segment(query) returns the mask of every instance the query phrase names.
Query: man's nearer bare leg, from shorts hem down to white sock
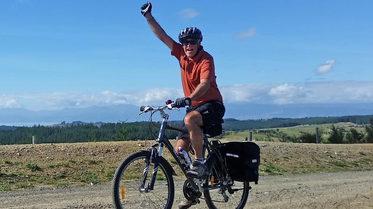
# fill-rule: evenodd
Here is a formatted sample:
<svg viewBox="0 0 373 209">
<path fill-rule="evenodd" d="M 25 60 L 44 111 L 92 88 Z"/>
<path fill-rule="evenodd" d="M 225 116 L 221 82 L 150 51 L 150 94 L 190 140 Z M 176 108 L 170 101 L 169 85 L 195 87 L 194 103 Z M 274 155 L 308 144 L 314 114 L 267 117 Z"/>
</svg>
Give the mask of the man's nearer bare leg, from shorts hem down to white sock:
<svg viewBox="0 0 373 209">
<path fill-rule="evenodd" d="M 189 131 L 190 141 L 193 145 L 195 157 L 202 158 L 203 132 L 200 127 L 203 126 L 203 121 L 201 114 L 197 111 L 189 112 L 185 115 L 184 123 Z"/>
</svg>

